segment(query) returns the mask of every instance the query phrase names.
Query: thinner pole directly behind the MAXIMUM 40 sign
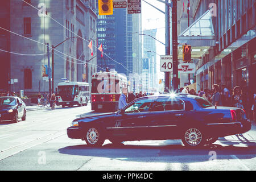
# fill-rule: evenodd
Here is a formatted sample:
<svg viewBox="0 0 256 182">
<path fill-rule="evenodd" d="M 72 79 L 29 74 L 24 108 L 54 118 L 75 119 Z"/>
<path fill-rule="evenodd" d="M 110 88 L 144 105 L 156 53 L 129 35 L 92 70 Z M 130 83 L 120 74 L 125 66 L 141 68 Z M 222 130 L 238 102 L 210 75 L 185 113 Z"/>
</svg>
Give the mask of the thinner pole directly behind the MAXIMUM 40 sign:
<svg viewBox="0 0 256 182">
<path fill-rule="evenodd" d="M 165 12 L 165 19 L 166 19 L 166 55 L 170 55 L 170 6 L 167 5 L 169 2 L 168 0 L 166 1 L 166 12 Z M 165 88 L 170 89 L 170 72 L 166 72 L 165 74 Z"/>
</svg>

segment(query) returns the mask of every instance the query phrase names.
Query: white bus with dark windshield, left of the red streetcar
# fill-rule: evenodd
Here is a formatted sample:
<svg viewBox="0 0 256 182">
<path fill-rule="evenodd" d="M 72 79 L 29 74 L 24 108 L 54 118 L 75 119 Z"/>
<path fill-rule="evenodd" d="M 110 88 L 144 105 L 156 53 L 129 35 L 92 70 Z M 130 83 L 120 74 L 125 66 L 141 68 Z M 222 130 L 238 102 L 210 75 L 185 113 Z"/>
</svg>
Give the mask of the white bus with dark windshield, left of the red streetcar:
<svg viewBox="0 0 256 182">
<path fill-rule="evenodd" d="M 62 107 L 84 106 L 90 100 L 89 84 L 87 82 L 59 82 L 57 90 L 58 105 L 62 105 Z"/>
</svg>

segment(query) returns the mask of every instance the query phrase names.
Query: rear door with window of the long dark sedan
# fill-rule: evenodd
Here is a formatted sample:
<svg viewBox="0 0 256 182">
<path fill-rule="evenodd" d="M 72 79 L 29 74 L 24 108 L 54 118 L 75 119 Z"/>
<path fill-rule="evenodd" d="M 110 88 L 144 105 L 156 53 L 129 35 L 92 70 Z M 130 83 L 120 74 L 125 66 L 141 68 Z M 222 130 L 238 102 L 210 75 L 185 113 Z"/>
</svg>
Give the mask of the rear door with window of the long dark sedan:
<svg viewBox="0 0 256 182">
<path fill-rule="evenodd" d="M 175 138 L 181 119 L 184 119 L 184 102 L 177 98 L 157 98 L 152 106 L 151 133 L 158 139 Z"/>
</svg>

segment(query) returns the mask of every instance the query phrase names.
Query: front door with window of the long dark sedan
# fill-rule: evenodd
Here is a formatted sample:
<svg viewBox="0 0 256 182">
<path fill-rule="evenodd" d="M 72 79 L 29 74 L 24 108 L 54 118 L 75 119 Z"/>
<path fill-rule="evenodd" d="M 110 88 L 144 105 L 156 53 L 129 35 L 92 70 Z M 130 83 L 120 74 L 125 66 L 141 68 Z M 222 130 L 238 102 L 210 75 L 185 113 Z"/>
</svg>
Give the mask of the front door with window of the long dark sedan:
<svg viewBox="0 0 256 182">
<path fill-rule="evenodd" d="M 136 100 L 124 108 L 123 113 L 115 117 L 113 135 L 122 135 L 130 139 L 145 139 L 148 133 L 148 118 L 154 99 L 143 98 Z"/>
</svg>

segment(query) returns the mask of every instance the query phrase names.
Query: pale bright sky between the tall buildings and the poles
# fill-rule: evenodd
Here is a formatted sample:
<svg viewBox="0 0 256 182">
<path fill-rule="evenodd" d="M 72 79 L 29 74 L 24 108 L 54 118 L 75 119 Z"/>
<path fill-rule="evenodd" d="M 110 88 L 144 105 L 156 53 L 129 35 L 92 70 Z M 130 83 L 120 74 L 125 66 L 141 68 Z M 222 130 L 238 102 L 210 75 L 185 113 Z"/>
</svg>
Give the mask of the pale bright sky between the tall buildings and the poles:
<svg viewBox="0 0 256 182">
<path fill-rule="evenodd" d="M 151 5 L 154 5 L 158 9 L 165 11 L 165 5 L 162 2 L 156 0 L 144 0 Z M 156 31 L 156 39 L 160 40 L 160 42 L 165 43 L 165 17 L 164 14 L 160 11 L 156 10 L 154 7 L 148 5 L 146 2 L 142 0 L 142 31 L 143 30 L 150 30 L 150 29 L 157 29 Z M 160 56 L 165 55 L 165 46 L 158 41 L 156 41 L 156 63 L 157 65 L 157 72 L 159 78 L 164 78 L 163 72 L 160 73 Z"/>
</svg>

